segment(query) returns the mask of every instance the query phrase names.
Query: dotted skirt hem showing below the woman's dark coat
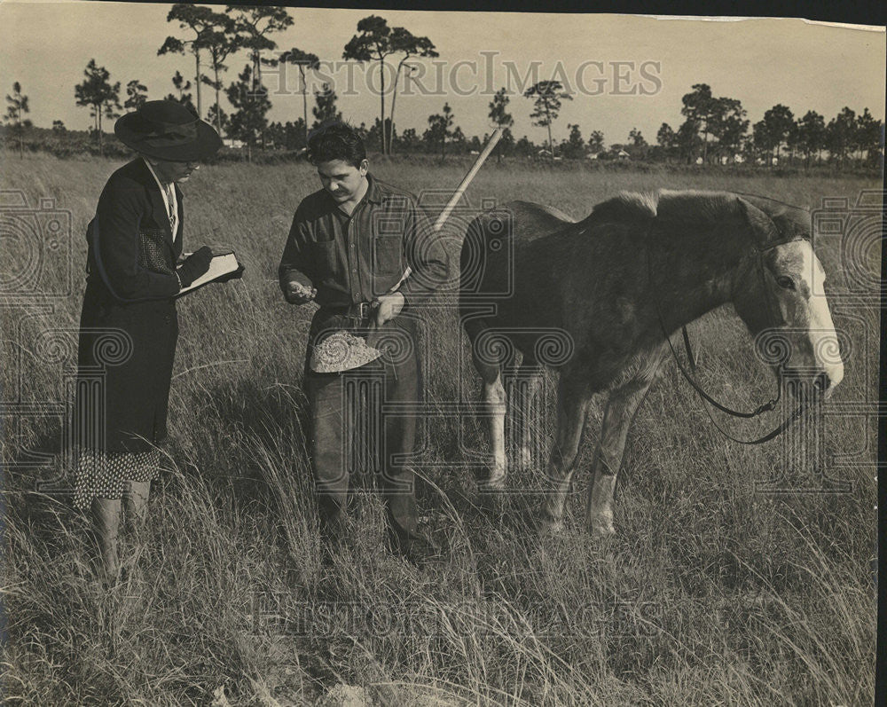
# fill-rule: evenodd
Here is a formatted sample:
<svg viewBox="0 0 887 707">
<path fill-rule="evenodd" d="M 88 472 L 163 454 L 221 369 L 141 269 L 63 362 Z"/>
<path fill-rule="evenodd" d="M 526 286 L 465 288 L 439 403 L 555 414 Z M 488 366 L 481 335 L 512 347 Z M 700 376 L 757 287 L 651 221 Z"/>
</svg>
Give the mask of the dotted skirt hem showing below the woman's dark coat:
<svg viewBox="0 0 887 707">
<path fill-rule="evenodd" d="M 121 499 L 130 491 L 130 481 L 157 478 L 161 452 L 96 452 L 84 450 L 77 462 L 74 505 L 86 510 L 92 499 Z"/>
</svg>

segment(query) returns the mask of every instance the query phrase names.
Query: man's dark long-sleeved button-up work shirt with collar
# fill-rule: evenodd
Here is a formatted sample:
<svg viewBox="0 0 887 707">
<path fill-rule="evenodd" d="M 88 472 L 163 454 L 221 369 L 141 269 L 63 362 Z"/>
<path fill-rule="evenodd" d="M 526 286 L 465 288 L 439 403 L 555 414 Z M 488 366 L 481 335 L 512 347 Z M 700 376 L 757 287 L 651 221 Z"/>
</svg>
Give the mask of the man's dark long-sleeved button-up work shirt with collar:
<svg viewBox="0 0 887 707">
<path fill-rule="evenodd" d="M 321 189 L 302 200 L 280 261 L 280 287 L 317 287 L 321 306 L 369 302 L 396 286 L 406 304 L 428 300 L 448 277 L 436 233 L 420 219 L 412 195 L 367 174 L 366 193 L 349 216 Z"/>
</svg>

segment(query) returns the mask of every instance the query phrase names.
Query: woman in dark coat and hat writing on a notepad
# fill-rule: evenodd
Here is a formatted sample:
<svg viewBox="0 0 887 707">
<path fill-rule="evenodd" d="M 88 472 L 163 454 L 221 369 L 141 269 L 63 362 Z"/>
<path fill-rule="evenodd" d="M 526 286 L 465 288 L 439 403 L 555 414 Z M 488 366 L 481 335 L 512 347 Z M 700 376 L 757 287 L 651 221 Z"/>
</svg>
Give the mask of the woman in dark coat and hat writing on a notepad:
<svg viewBox="0 0 887 707">
<path fill-rule="evenodd" d="M 177 266 L 184 208 L 177 183 L 211 157 L 216 130 L 173 101 L 148 101 L 114 125 L 139 156 L 108 179 L 87 232 L 74 438 L 75 506 L 92 508 L 105 570 L 120 572 L 117 534 L 144 521 L 167 436 L 176 296 L 206 273 L 201 247 Z"/>
</svg>

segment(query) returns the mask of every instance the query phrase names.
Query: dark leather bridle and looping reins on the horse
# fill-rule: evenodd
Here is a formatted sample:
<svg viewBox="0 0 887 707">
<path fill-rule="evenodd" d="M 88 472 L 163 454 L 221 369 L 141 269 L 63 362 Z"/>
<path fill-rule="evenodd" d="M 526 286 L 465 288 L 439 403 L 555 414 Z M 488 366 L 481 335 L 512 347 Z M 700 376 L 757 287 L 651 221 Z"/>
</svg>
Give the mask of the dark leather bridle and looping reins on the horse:
<svg viewBox="0 0 887 707">
<path fill-rule="evenodd" d="M 784 201 L 777 201 L 775 199 L 769 199 L 768 197 L 757 196 L 757 194 L 743 194 L 742 192 L 733 192 L 733 193 L 737 194 L 738 196 L 753 196 L 753 197 L 756 197 L 757 199 L 771 200 L 771 201 L 776 201 L 778 203 L 781 203 L 785 206 L 792 206 L 791 204 L 786 204 Z M 752 206 L 754 206 L 754 205 L 752 204 Z M 792 208 L 798 208 L 798 207 L 792 207 Z M 799 209 L 799 210 L 803 210 L 803 209 Z M 775 224 L 773 224 L 773 225 L 775 226 Z M 650 230 L 652 230 L 652 223 L 650 224 Z M 758 271 L 760 278 L 761 278 L 762 292 L 763 292 L 765 304 L 767 307 L 767 313 L 771 317 L 772 321 L 775 321 L 776 319 L 773 317 L 773 305 L 772 305 L 772 302 L 770 301 L 769 292 L 766 287 L 766 279 L 765 279 L 765 274 L 764 274 L 764 270 L 765 270 L 764 255 L 767 251 L 772 250 L 774 247 L 782 246 L 782 245 L 785 245 L 786 243 L 791 243 L 795 240 L 805 240 L 805 238 L 803 236 L 786 235 L 786 234 L 780 232 L 778 226 L 776 226 L 776 230 L 777 230 L 777 232 L 779 232 L 780 238 L 773 239 L 773 240 L 766 240 L 763 243 L 756 242 L 752 246 L 753 250 L 754 250 L 753 257 L 757 261 L 757 271 Z M 648 232 L 648 235 L 649 235 L 649 232 Z M 648 239 L 648 245 L 649 245 L 649 239 Z M 652 280 L 653 272 L 652 272 L 652 263 L 651 263 L 651 258 L 650 258 L 649 247 L 647 248 L 647 267 L 648 267 L 648 279 Z M 782 397 L 781 383 L 777 385 L 776 397 L 772 397 L 764 405 L 758 405 L 757 408 L 755 408 L 751 412 L 741 412 L 741 411 L 733 410 L 732 408 L 729 408 L 726 405 L 722 405 L 721 403 L 718 403 L 717 400 L 715 400 L 708 393 L 706 393 L 705 390 L 703 390 L 702 386 L 694 380 L 693 376 L 687 372 L 687 368 L 680 362 L 680 359 L 678 357 L 678 352 L 674 349 L 674 345 L 671 343 L 671 336 L 668 334 L 668 331 L 665 328 L 665 322 L 663 320 L 662 310 L 659 307 L 658 299 L 655 299 L 654 303 L 655 303 L 656 316 L 659 319 L 659 326 L 662 329 L 662 334 L 665 339 L 665 342 L 668 343 L 669 350 L 671 350 L 671 357 L 674 358 L 675 364 L 678 365 L 678 370 L 684 376 L 684 378 L 687 379 L 687 382 L 690 384 L 690 386 L 695 390 L 696 395 L 701 397 L 704 402 L 710 403 L 710 405 L 713 405 L 714 407 L 718 408 L 718 410 L 720 410 L 721 412 L 726 412 L 727 414 L 732 415 L 733 417 L 738 417 L 738 418 L 747 419 L 747 420 L 751 419 L 751 418 L 755 418 L 758 415 L 761 415 L 765 412 L 770 412 L 771 410 L 775 409 L 776 405 L 779 405 L 779 401 L 781 400 L 781 397 Z M 687 333 L 687 326 L 686 325 L 681 326 L 681 335 L 684 340 L 684 348 L 687 351 L 687 359 L 689 361 L 690 369 L 693 373 L 696 373 L 695 357 L 693 355 L 693 350 L 690 346 L 690 335 Z M 739 437 L 735 437 L 735 436 L 731 435 L 729 432 L 726 431 L 726 429 L 724 429 L 720 425 L 718 425 L 717 420 L 715 420 L 711 416 L 711 412 L 710 412 L 708 406 L 703 405 L 703 408 L 704 408 L 706 414 L 709 416 L 709 420 L 711 420 L 711 424 L 713 424 L 715 426 L 715 428 L 718 429 L 718 432 L 720 432 L 723 436 L 726 436 L 727 439 L 730 439 L 733 442 L 736 442 L 738 444 L 764 444 L 765 442 L 769 442 L 771 439 L 773 439 L 773 437 L 781 435 L 782 432 L 784 432 L 787 428 L 789 428 L 789 426 L 805 412 L 805 410 L 807 409 L 808 406 L 809 406 L 809 403 L 807 403 L 806 401 L 802 402 L 800 405 L 797 406 L 797 409 L 794 412 L 792 412 L 785 420 L 783 420 L 781 422 L 781 424 L 778 427 L 774 428 L 773 430 L 771 430 L 770 432 L 768 432 L 764 436 L 760 436 L 760 437 L 757 437 L 757 439 L 751 439 L 751 440 L 740 439 Z"/>
</svg>

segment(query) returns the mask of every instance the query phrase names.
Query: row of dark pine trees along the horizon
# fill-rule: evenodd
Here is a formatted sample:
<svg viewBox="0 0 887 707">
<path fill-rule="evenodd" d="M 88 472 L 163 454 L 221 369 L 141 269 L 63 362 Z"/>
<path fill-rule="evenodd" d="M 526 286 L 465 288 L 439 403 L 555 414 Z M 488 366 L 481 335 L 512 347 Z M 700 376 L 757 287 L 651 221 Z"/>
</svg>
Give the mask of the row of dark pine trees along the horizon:
<svg viewBox="0 0 887 707">
<path fill-rule="evenodd" d="M 286 8 L 229 5 L 224 12 L 216 12 L 210 7 L 180 3 L 172 5 L 167 20 L 177 24 L 179 34 L 169 35 L 157 54 L 191 55 L 194 75 L 185 77 L 176 71 L 171 78 L 173 90 L 165 98 L 188 107 L 213 124 L 221 135 L 243 145 L 247 159 L 251 159 L 256 149 L 303 151 L 310 130 L 323 122 L 341 120 L 338 97 L 328 83 L 311 91 L 313 120 L 309 119 L 308 78 L 318 72 L 320 59 L 298 47 L 278 51 L 273 35 L 294 23 Z M 243 51 L 248 61 L 237 75 L 237 81 L 225 87 L 223 77 L 229 68 L 226 62 Z M 445 159 L 447 153 L 472 153 L 481 149 L 487 136 L 467 137 L 455 124 L 455 115 L 448 103 L 439 113 L 428 116 L 427 128 L 421 134 L 412 128 L 402 132 L 396 129 L 400 77 L 416 70 L 418 60 L 437 56 L 436 46 L 428 37 L 413 35 L 405 27 L 389 27 L 387 20 L 376 15 L 357 22 L 357 32 L 345 44 L 341 58 L 359 63 L 376 62 L 380 68 L 380 113 L 369 126 L 365 122 L 356 126 L 368 145 L 377 146 L 382 154 L 429 152 L 439 153 L 441 159 Z M 391 100 L 386 110 L 389 90 L 384 85 L 384 77 L 389 62 L 394 67 L 394 82 L 389 87 Z M 302 116 L 293 121 L 269 122 L 271 99 L 263 84 L 262 70 L 281 64 L 298 69 Z M 98 153 L 104 154 L 103 121 L 118 117 L 122 109 L 141 106 L 147 100 L 147 88 L 138 79 L 132 79 L 126 83 L 122 97 L 121 82 L 112 82 L 107 69 L 98 66 L 95 59 L 90 59 L 83 75 L 83 81 L 75 86 L 76 105 L 90 110 L 91 134 L 98 142 Z M 206 108 L 203 87 L 213 92 Z M 233 108 L 231 114 L 221 106 L 223 93 Z M 572 100 L 561 82 L 537 82 L 524 90 L 522 97 L 530 100 L 531 124 L 546 129 L 546 144 L 535 145 L 526 136 L 515 139 L 511 130 L 514 118 L 508 112 L 511 99 L 502 88 L 492 97 L 488 113 L 491 128 L 502 129 L 498 159 L 521 156 L 688 164 L 757 161 L 774 165 L 788 157 L 790 161 L 803 160 L 805 166 L 824 160 L 839 166 L 848 162 L 876 166 L 883 160 L 883 122 L 875 120 L 868 108 L 856 114 L 850 107 L 844 107 L 827 123 L 824 116 L 812 110 L 796 118 L 788 106 L 779 104 L 767 110 L 761 121 L 750 125 L 740 100 L 715 97 L 708 84 L 697 83 L 681 99 L 684 122 L 677 130 L 663 122 L 656 133 L 655 145 L 648 144 L 636 128 L 629 131 L 624 143 L 606 145 L 600 130 L 593 130 L 585 138 L 579 126 L 572 123 L 567 125 L 566 137 L 555 140 L 553 127 L 563 102 Z M 7 136 L 17 140 L 21 153 L 23 136 L 31 125 L 24 117 L 29 106 L 19 82 L 13 84 L 12 94 L 6 96 L 6 101 Z M 53 132 L 61 136 L 66 128 L 55 121 Z"/>
</svg>

